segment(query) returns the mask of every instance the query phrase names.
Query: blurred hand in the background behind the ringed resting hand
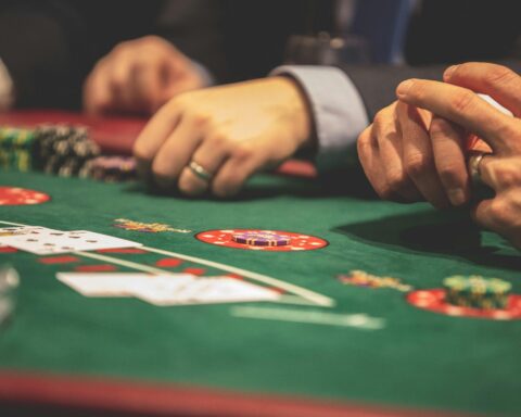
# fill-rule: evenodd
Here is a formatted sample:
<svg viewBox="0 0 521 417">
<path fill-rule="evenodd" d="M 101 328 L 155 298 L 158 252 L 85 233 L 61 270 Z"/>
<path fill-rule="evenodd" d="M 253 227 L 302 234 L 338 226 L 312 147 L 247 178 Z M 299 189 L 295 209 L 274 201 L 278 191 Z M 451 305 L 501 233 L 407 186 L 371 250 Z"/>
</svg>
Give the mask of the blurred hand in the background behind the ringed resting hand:
<svg viewBox="0 0 521 417">
<path fill-rule="evenodd" d="M 102 58 L 84 85 L 84 109 L 90 114 L 152 114 L 185 91 L 204 87 L 193 63 L 156 36 L 117 45 Z"/>
</svg>

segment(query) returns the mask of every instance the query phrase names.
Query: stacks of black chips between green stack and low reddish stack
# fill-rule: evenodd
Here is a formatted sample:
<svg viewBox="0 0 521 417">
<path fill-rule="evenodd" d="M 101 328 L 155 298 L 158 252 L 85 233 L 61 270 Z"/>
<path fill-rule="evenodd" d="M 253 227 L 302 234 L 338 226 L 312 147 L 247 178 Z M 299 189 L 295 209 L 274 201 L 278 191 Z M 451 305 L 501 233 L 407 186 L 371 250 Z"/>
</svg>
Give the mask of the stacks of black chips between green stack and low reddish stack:
<svg viewBox="0 0 521 417">
<path fill-rule="evenodd" d="M 37 166 L 47 174 L 63 177 L 78 175 L 84 165 L 100 155 L 100 148 L 85 127 L 46 125 L 35 130 Z"/>
</svg>

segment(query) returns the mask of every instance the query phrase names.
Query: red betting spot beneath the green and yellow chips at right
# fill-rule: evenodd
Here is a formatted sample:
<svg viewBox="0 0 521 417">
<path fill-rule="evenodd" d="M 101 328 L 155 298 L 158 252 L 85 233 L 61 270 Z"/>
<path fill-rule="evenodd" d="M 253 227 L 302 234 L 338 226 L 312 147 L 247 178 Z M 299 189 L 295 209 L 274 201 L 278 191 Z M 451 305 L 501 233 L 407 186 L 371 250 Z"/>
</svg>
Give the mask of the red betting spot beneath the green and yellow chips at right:
<svg viewBox="0 0 521 417">
<path fill-rule="evenodd" d="M 521 295 L 517 294 L 508 298 L 508 306 L 505 309 L 480 309 L 448 304 L 445 301 L 445 290 L 441 288 L 409 292 L 407 301 L 415 307 L 447 316 L 478 317 L 491 320 L 521 319 Z"/>
</svg>

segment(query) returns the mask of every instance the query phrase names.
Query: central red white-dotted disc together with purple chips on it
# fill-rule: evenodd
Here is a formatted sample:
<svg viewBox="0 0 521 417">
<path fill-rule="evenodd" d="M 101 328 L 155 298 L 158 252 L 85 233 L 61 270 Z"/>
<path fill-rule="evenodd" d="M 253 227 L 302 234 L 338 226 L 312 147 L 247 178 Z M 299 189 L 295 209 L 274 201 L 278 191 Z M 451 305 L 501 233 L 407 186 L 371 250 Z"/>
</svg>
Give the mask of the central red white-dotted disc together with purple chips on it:
<svg viewBox="0 0 521 417">
<path fill-rule="evenodd" d="M 329 244 L 327 240 L 315 236 L 283 230 L 206 230 L 195 235 L 195 238 L 204 243 L 252 251 L 312 251 Z"/>
</svg>

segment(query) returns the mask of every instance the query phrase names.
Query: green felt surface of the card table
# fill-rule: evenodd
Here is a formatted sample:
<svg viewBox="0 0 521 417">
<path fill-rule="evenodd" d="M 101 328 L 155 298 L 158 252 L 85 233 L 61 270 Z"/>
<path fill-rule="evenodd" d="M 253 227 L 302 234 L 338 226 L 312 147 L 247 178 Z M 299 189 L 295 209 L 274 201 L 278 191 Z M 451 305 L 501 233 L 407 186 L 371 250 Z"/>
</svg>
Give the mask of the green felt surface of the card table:
<svg viewBox="0 0 521 417">
<path fill-rule="evenodd" d="M 41 205 L 0 206 L 0 220 L 138 240 L 266 274 L 336 302 L 333 308 L 249 305 L 365 313 L 385 320 L 383 329 L 371 331 L 239 318 L 230 314 L 230 304 L 156 307 L 134 299 L 88 299 L 54 277 L 76 264 L 43 265 L 36 255 L 3 253 L 0 261 L 16 266 L 22 286 L 14 319 L 0 330 L 0 368 L 521 414 L 520 320 L 439 315 L 412 307 L 396 290 L 350 287 L 335 279 L 363 269 L 428 289 L 442 287 L 449 275 L 480 274 L 505 279 L 521 292 L 520 255 L 494 233 L 479 232 L 461 213 L 328 194 L 306 180 L 268 176 L 254 179 L 234 201 L 157 197 L 135 184 L 37 174 L 2 172 L 0 179 L 2 186 L 31 188 L 52 197 Z M 113 227 L 120 217 L 194 232 L 298 231 L 330 244 L 308 252 L 233 250 L 202 243 L 192 233 L 142 233 Z M 152 265 L 162 257 L 114 256 Z M 186 262 L 177 269 L 190 266 L 198 265 Z"/>
</svg>

